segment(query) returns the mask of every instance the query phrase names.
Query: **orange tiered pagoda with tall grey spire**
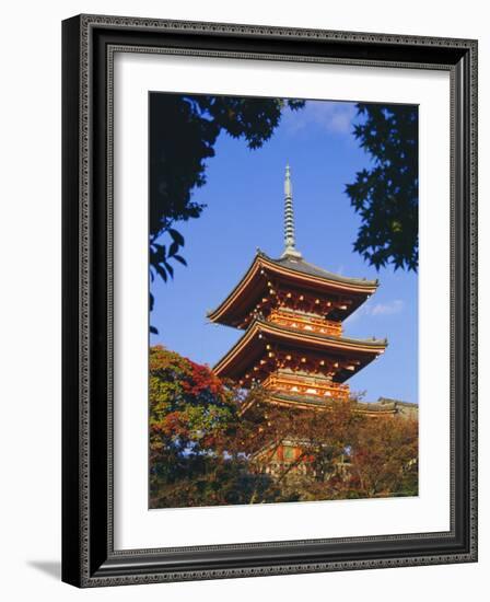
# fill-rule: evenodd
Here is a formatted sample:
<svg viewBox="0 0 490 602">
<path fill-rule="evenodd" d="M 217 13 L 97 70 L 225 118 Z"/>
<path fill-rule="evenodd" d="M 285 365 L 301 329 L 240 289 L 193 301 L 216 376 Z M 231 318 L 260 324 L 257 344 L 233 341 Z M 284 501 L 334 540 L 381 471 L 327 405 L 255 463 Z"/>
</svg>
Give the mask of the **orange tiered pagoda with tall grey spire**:
<svg viewBox="0 0 490 602">
<path fill-rule="evenodd" d="M 268 403 L 278 406 L 327 409 L 335 401 L 350 402 L 349 379 L 381 357 L 387 340 L 345 336 L 342 323 L 377 287 L 377 280 L 331 274 L 303 258 L 295 245 L 288 165 L 282 255 L 275 259 L 258 250 L 240 282 L 208 313 L 211 322 L 244 331 L 214 366 L 215 374 L 244 389 L 260 384 Z M 377 416 L 398 413 L 392 401 L 355 408 Z"/>
</svg>

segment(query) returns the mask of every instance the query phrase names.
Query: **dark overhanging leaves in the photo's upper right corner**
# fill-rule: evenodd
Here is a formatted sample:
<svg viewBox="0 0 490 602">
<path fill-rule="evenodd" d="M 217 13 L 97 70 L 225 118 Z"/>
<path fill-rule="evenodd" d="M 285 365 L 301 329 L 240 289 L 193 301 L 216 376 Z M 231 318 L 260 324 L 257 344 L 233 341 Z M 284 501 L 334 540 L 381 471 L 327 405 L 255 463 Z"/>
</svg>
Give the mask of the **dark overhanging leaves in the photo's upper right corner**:
<svg viewBox="0 0 490 602">
<path fill-rule="evenodd" d="M 411 105 L 358 104 L 354 137 L 372 166 L 346 186 L 362 224 L 354 250 L 377 269 L 418 267 L 418 109 Z"/>
</svg>

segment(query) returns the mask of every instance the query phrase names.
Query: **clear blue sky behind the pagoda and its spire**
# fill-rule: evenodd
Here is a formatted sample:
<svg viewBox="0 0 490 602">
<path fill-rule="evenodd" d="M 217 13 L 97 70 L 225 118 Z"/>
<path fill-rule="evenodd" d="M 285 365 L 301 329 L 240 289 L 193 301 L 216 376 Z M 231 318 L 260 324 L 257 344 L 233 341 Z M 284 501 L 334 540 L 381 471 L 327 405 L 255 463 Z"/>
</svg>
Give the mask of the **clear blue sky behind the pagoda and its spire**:
<svg viewBox="0 0 490 602">
<path fill-rule="evenodd" d="M 370 158 L 352 135 L 352 103 L 313 102 L 299 112 L 285 111 L 272 138 L 249 150 L 243 140 L 221 135 L 215 157 L 208 161 L 207 184 L 194 199 L 207 208 L 201 217 L 177 229 L 185 236 L 182 255 L 188 267 L 175 265 L 174 280 L 152 285 L 155 309 L 151 324 L 162 344 L 190 359 L 213 366 L 243 334 L 210 324 L 214 309 L 238 282 L 256 248 L 272 257 L 283 251 L 283 178 L 291 165 L 296 247 L 303 257 L 343 276 L 378 278 L 380 288 L 345 322 L 349 337 L 388 338 L 378 359 L 348 382 L 380 396 L 418 402 L 417 275 L 392 267 L 376 271 L 352 251 L 360 219 L 345 186 Z"/>
</svg>

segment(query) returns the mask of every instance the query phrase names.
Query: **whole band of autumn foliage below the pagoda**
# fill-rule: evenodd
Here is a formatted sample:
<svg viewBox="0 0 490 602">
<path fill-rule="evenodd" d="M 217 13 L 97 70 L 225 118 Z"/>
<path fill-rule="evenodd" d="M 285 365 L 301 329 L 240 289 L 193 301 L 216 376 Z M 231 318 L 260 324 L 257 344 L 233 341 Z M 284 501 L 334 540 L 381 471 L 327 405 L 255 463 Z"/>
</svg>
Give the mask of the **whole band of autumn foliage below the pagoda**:
<svg viewBox="0 0 490 602">
<path fill-rule="evenodd" d="M 284 440 L 300 455 L 267 474 L 257 459 Z M 417 459 L 416 420 L 366 417 L 342 402 L 273 406 L 258 387 L 243 392 L 206 366 L 150 350 L 152 508 L 417 495 Z"/>
</svg>

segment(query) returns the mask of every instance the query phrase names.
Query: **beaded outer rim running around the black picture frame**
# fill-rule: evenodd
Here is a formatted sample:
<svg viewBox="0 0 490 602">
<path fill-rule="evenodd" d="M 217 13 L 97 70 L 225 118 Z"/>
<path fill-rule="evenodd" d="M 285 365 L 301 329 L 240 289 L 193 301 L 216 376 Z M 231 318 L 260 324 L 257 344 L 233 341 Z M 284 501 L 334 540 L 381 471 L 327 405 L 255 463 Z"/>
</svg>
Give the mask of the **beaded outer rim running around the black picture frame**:
<svg viewBox="0 0 490 602">
<path fill-rule="evenodd" d="M 280 566 L 255 566 L 248 568 L 228 568 L 217 570 L 182 570 L 159 574 L 129 574 L 120 577 L 91 575 L 90 570 L 90 111 L 91 111 L 91 73 L 90 73 L 90 32 L 93 26 L 102 25 L 112 28 L 155 28 L 160 31 L 186 32 L 189 33 L 233 33 L 238 35 L 254 36 L 275 36 L 275 37 L 296 37 L 296 38 L 317 38 L 319 40 L 335 42 L 364 42 L 371 44 L 396 44 L 396 45 L 421 45 L 427 47 L 451 47 L 462 50 L 469 50 L 470 72 L 469 94 L 470 94 L 470 124 L 466 132 L 469 136 L 469 144 L 466 147 L 468 154 L 471 153 L 471 170 L 468 177 L 468 193 L 470 202 L 470 217 L 468 235 L 469 255 L 470 255 L 470 278 L 467 299 L 470 301 L 469 308 L 469 487 L 470 487 L 470 510 L 469 510 L 469 549 L 465 553 L 431 555 L 418 557 L 399 557 L 384 559 L 348 560 L 348 562 L 328 562 L 311 563 L 306 565 L 280 565 Z M 77 30 L 77 34 L 74 33 Z M 75 39 L 77 38 L 77 39 Z M 400 36 L 387 34 L 362 34 L 350 32 L 328 32 L 317 30 L 296 30 L 284 27 L 267 27 L 254 25 L 233 25 L 233 24 L 213 24 L 196 22 L 175 22 L 161 20 L 147 20 L 136 18 L 117 18 L 101 15 L 80 15 L 63 22 L 63 55 L 67 57 L 63 62 L 63 574 L 62 579 L 78 587 L 100 587 L 131 583 L 148 583 L 161 581 L 182 581 L 190 579 L 224 579 L 235 577 L 254 577 L 260 575 L 288 575 L 296 572 L 315 572 L 332 570 L 355 570 L 365 568 L 388 568 L 399 566 L 431 565 L 441 563 L 465 563 L 476 560 L 476 57 L 477 43 L 466 39 L 447 39 L 417 36 Z M 77 60 L 73 60 L 73 53 Z M 74 78 L 70 70 L 80 68 L 80 80 L 74 83 Z M 77 89 L 77 94 L 73 91 Z M 73 131 L 73 124 L 68 115 L 74 112 L 74 96 L 80 99 L 77 106 L 77 129 Z M 70 112 L 67 111 L 70 107 Z M 74 139 L 77 144 L 74 144 Z M 78 148 L 77 159 L 74 160 L 74 148 Z M 468 157 L 466 154 L 466 157 Z M 74 175 L 73 164 L 77 163 L 78 173 Z M 74 217 L 73 196 L 79 199 L 80 215 Z M 80 225 L 80 234 L 70 240 L 73 234 L 74 225 Z M 75 243 L 73 241 L 77 241 Z M 74 245 L 77 244 L 77 251 Z M 77 276 L 77 283 L 73 282 L 72 274 Z M 73 291 L 77 294 L 77 316 L 73 315 Z M 74 332 L 77 343 L 73 341 Z M 77 347 L 77 416 L 74 416 L 72 396 L 74 394 L 74 367 L 73 354 Z M 80 379 L 80 380 L 79 380 Z M 77 420 L 74 420 L 77 418 Z M 74 426 L 74 422 L 77 425 Z M 79 482 L 74 484 L 73 474 L 73 440 L 71 436 L 75 435 L 78 442 L 78 462 L 77 477 Z M 74 520 L 77 519 L 77 521 Z M 77 522 L 77 530 L 74 523 Z M 68 525 L 68 528 L 67 528 Z M 79 528 L 80 525 L 80 528 Z"/>
</svg>

